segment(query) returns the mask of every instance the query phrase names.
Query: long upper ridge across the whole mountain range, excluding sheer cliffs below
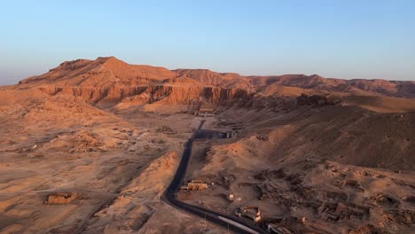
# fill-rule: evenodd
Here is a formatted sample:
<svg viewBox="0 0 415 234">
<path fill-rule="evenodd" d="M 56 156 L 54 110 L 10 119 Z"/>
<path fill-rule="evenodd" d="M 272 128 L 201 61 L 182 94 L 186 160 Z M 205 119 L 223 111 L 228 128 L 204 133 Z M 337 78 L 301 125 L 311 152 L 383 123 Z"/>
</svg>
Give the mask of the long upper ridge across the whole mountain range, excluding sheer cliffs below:
<svg viewBox="0 0 415 234">
<path fill-rule="evenodd" d="M 267 90 L 267 96 L 278 87 L 296 87 L 306 90 L 324 90 L 353 95 L 380 95 L 396 98 L 415 98 L 415 82 L 386 80 L 342 80 L 317 74 L 284 74 L 244 76 L 216 73 L 207 69 L 176 69 L 130 65 L 118 58 L 66 61 L 48 73 L 32 76 L 20 82 L 21 87 L 51 85 L 54 87 L 110 88 L 142 87 L 148 85 L 209 86 L 218 88 Z M 268 88 L 268 89 L 267 89 Z M 283 90 L 288 93 L 299 90 Z M 278 93 L 276 93 L 278 95 Z"/>
</svg>

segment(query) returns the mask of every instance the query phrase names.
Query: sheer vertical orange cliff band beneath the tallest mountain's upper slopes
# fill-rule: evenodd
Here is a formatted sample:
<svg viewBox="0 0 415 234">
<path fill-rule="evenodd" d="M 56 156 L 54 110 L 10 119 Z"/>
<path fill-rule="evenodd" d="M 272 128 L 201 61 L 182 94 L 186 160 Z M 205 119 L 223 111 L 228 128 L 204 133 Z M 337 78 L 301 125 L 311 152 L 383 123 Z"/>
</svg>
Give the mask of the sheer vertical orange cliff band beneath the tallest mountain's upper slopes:
<svg viewBox="0 0 415 234">
<path fill-rule="evenodd" d="M 164 104 L 189 104 L 192 100 L 202 100 L 215 105 L 232 99 L 249 98 L 247 90 L 223 89 L 215 87 L 148 85 L 138 87 L 83 88 L 51 87 L 39 88 L 49 95 L 67 94 L 82 98 L 94 105 L 116 105 L 155 103 L 163 100 Z"/>
</svg>

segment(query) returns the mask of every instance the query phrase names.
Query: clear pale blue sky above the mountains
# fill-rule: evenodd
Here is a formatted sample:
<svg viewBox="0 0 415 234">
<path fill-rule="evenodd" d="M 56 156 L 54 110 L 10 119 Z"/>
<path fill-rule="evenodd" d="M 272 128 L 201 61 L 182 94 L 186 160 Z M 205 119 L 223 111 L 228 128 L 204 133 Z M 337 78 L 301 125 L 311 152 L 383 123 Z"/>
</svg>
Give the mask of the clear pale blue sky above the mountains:
<svg viewBox="0 0 415 234">
<path fill-rule="evenodd" d="M 66 60 L 415 80 L 415 1 L 1 1 L 0 84 Z"/>
</svg>

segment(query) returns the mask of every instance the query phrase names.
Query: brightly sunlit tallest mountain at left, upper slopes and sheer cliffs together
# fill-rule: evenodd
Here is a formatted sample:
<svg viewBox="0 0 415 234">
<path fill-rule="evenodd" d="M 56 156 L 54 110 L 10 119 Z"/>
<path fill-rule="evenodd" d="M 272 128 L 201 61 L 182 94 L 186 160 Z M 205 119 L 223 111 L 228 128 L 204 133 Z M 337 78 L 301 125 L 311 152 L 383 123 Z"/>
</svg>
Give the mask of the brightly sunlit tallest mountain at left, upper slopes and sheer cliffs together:
<svg viewBox="0 0 415 234">
<path fill-rule="evenodd" d="M 239 89 L 242 87 L 243 89 Z M 221 104 L 250 96 L 247 78 L 209 70 L 175 70 L 129 65 L 117 58 L 67 61 L 49 73 L 29 77 L 20 89 L 38 88 L 49 95 L 71 95 L 92 105 Z"/>
</svg>

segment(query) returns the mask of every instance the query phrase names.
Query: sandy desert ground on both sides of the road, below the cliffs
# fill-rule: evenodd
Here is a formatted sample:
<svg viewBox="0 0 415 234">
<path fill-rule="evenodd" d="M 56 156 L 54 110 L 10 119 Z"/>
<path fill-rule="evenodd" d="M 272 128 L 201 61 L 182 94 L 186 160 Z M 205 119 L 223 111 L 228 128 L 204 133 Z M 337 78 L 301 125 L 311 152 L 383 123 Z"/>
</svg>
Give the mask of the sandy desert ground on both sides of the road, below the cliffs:
<svg viewBox="0 0 415 234">
<path fill-rule="evenodd" d="M 179 198 L 229 214 L 257 206 L 296 233 L 414 233 L 415 114 L 400 100 L 223 106 L 204 128 L 233 137 L 195 142 L 185 176 L 210 186 Z M 1 90 L 0 233 L 226 232 L 160 200 L 200 123 L 182 110 Z M 46 203 L 54 192 L 79 196 Z"/>
</svg>

